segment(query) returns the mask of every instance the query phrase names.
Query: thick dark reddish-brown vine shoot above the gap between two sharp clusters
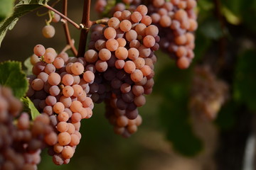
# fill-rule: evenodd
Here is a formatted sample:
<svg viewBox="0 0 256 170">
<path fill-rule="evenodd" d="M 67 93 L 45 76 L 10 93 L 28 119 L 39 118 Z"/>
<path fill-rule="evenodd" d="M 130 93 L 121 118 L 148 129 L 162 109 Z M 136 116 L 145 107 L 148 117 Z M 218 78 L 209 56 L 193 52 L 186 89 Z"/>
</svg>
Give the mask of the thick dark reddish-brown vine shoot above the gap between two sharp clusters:
<svg viewBox="0 0 256 170">
<path fill-rule="evenodd" d="M 92 21 L 90 21 L 90 0 L 84 0 L 83 11 L 82 11 L 82 22 L 80 25 L 84 26 L 80 33 L 78 55 L 77 57 L 83 57 L 85 54 L 85 47 L 87 41 L 87 35 L 92 26 Z"/>
</svg>

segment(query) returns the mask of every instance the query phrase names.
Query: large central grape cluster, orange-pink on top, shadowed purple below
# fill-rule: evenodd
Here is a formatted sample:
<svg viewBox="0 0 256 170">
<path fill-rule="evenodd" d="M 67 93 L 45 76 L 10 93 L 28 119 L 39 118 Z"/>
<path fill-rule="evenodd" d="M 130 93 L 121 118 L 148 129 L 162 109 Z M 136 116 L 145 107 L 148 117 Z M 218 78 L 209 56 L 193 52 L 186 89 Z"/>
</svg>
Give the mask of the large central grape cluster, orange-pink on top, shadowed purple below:
<svg viewBox="0 0 256 170">
<path fill-rule="evenodd" d="M 107 26 L 92 29 L 90 50 L 85 52 L 86 69 L 95 74 L 90 84 L 92 101 L 105 101 L 107 118 L 118 120 L 112 124 L 124 136 L 136 132 L 134 127 L 141 122 L 137 107 L 146 103 L 144 94 L 151 94 L 154 85 L 154 51 L 159 49 L 160 38 L 147 11 L 144 5 L 133 13 L 116 11 Z M 118 123 L 123 119 L 124 123 Z"/>
</svg>

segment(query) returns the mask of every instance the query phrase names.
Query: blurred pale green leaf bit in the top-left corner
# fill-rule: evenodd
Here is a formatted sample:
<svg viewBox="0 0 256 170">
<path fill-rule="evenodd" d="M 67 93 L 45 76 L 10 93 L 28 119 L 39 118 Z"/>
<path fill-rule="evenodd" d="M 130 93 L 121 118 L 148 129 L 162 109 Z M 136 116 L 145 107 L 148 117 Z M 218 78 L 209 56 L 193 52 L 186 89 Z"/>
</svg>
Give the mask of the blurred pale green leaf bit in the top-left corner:
<svg viewBox="0 0 256 170">
<path fill-rule="evenodd" d="M 0 22 L 11 16 L 14 11 L 14 0 L 0 0 Z"/>
</svg>

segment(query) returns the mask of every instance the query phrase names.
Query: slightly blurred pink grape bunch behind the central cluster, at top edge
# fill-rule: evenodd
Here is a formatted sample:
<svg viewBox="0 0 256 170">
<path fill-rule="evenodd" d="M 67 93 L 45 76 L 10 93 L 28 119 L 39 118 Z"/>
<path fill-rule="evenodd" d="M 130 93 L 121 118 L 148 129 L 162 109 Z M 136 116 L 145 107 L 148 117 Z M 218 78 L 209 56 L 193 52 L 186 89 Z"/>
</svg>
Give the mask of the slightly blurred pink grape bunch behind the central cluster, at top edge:
<svg viewBox="0 0 256 170">
<path fill-rule="evenodd" d="M 134 11 L 140 3 L 137 0 L 122 0 L 110 9 L 110 13 L 124 11 L 126 8 Z M 161 50 L 176 60 L 178 68 L 188 68 L 194 57 L 194 31 L 198 27 L 194 11 L 196 0 L 151 0 L 146 3 L 151 17 L 142 20 L 152 22 L 159 28 Z M 100 13 L 109 6 L 111 2 L 106 0 L 98 0 L 95 4 Z"/>
</svg>

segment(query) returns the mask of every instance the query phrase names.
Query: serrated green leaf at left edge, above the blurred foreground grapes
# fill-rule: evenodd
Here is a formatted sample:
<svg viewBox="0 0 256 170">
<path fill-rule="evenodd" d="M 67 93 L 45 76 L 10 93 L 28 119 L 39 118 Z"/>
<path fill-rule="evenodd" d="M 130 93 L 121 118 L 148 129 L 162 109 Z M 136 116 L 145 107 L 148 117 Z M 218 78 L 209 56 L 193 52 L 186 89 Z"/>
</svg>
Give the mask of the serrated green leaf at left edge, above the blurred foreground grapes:
<svg viewBox="0 0 256 170">
<path fill-rule="evenodd" d="M 26 74 L 21 69 L 21 62 L 0 63 L 0 84 L 11 87 L 14 96 L 21 98 L 28 90 Z"/>
</svg>

